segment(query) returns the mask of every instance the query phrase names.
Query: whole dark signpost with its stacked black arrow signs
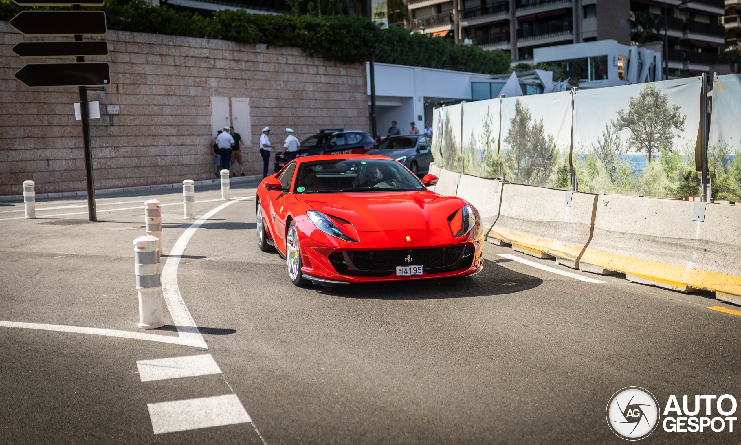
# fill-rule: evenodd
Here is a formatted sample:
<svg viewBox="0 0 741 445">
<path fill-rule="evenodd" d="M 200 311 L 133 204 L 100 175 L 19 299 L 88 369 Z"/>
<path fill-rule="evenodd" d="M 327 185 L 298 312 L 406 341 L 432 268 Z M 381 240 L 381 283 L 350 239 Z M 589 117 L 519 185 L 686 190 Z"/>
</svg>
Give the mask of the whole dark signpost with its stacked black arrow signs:
<svg viewBox="0 0 741 445">
<path fill-rule="evenodd" d="M 80 6 L 102 6 L 102 0 L 13 0 L 20 6 L 71 6 L 71 11 L 22 11 L 10 19 L 10 25 L 24 36 L 74 36 L 74 42 L 21 42 L 13 53 L 23 58 L 75 57 L 77 63 L 27 64 L 16 72 L 16 79 L 31 88 L 77 87 L 80 93 L 82 141 L 87 187 L 87 214 L 97 221 L 93 155 L 90 151 L 90 111 L 87 87 L 110 85 L 107 63 L 85 63 L 85 56 L 107 56 L 107 42 L 83 42 L 82 36 L 104 36 L 105 13 L 82 11 Z"/>
</svg>

